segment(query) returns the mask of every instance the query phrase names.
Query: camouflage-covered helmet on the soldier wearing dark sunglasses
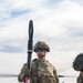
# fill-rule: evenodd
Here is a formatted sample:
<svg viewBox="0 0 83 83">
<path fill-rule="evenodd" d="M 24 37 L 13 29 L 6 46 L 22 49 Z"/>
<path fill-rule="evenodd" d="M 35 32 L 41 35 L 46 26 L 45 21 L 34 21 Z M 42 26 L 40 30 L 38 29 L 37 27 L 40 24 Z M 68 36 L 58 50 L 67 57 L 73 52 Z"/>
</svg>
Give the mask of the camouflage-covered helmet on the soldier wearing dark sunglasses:
<svg viewBox="0 0 83 83">
<path fill-rule="evenodd" d="M 34 44 L 33 50 L 34 50 L 34 52 L 35 52 L 37 49 L 41 49 L 41 48 L 44 49 L 45 51 L 50 52 L 49 45 L 48 45 L 45 42 L 43 42 L 43 41 L 38 41 L 38 42 Z"/>
</svg>

